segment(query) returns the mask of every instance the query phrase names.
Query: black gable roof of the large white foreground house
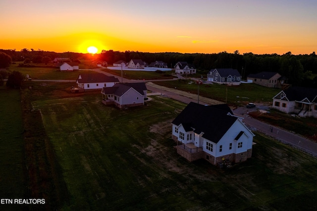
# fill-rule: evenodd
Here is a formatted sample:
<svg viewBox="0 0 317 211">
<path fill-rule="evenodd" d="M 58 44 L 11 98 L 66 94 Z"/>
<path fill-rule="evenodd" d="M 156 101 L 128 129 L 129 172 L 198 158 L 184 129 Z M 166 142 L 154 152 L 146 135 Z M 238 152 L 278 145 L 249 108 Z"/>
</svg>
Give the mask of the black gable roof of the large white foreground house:
<svg viewBox="0 0 317 211">
<path fill-rule="evenodd" d="M 218 143 L 238 119 L 227 115 L 228 113 L 232 114 L 232 111 L 226 104 L 205 106 L 191 102 L 172 124 L 182 125 L 186 131 L 194 131 L 198 134 L 203 132 L 202 137 Z"/>
</svg>

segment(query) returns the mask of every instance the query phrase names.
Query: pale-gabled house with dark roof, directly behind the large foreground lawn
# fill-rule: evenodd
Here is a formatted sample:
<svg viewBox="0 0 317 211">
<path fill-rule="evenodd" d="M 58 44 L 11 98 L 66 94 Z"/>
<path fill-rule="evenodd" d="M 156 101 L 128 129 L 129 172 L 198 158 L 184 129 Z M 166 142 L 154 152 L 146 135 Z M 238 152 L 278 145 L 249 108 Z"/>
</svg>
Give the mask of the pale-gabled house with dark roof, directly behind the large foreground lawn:
<svg viewBox="0 0 317 211">
<path fill-rule="evenodd" d="M 145 83 L 114 84 L 104 87 L 101 91 L 102 102 L 106 105 L 114 104 L 119 108 L 144 105 L 147 97 Z"/>
</svg>

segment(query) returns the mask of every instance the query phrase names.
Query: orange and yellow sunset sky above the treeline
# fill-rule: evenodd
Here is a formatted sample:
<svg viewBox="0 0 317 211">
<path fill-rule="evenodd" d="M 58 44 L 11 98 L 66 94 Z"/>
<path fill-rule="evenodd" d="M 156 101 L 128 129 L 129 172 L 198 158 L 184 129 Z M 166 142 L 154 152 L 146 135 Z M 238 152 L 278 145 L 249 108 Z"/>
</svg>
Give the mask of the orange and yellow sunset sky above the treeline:
<svg viewBox="0 0 317 211">
<path fill-rule="evenodd" d="M 0 49 L 317 51 L 316 0 L 0 0 Z"/>
</svg>

